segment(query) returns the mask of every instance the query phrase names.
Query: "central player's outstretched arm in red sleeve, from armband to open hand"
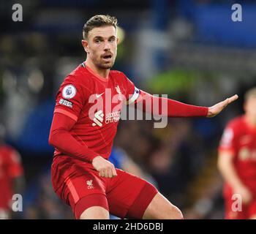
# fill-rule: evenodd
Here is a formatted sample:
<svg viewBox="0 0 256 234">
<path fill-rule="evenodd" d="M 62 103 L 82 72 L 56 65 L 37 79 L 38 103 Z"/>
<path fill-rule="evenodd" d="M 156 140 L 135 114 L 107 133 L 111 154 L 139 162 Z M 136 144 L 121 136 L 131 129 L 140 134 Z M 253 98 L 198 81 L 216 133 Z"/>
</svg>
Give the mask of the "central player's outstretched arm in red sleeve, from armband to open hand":
<svg viewBox="0 0 256 234">
<path fill-rule="evenodd" d="M 135 107 L 150 112 L 153 115 L 168 117 L 214 117 L 217 116 L 228 104 L 235 101 L 238 95 L 234 95 L 223 102 L 219 102 L 212 107 L 199 107 L 178 102 L 165 97 L 155 97 L 145 91 L 140 90 L 140 95 L 135 102 Z"/>
</svg>

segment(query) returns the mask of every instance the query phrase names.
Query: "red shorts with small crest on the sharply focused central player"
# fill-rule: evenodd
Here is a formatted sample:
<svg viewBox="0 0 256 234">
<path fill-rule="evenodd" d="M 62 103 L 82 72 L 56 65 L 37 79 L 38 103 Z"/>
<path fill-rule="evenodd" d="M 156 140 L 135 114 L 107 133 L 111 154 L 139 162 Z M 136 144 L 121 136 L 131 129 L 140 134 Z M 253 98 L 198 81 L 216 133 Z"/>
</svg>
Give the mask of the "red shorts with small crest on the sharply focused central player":
<svg viewBox="0 0 256 234">
<path fill-rule="evenodd" d="M 60 185 L 56 181 L 61 180 L 54 178 L 60 176 L 56 169 L 53 164 L 53 189 L 61 200 L 71 206 L 76 219 L 91 206 L 101 206 L 121 219 L 142 219 L 158 192 L 147 181 L 123 170 L 116 169 L 118 176 L 105 178 L 100 177 L 97 170 L 86 166 L 81 173 L 81 165 L 78 173 L 70 170 L 69 176 Z"/>
</svg>

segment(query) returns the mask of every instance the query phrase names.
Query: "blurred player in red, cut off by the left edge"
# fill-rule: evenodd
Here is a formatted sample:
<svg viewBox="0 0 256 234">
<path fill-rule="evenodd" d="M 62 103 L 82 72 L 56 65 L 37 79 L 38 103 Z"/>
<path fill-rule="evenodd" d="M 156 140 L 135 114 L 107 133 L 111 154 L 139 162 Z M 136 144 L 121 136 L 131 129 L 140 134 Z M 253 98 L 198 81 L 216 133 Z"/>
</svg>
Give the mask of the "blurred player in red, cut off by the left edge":
<svg viewBox="0 0 256 234">
<path fill-rule="evenodd" d="M 4 127 L 0 125 L 0 219 L 15 217 L 12 213 L 12 196 L 24 188 L 20 154 L 4 143 Z"/>
</svg>

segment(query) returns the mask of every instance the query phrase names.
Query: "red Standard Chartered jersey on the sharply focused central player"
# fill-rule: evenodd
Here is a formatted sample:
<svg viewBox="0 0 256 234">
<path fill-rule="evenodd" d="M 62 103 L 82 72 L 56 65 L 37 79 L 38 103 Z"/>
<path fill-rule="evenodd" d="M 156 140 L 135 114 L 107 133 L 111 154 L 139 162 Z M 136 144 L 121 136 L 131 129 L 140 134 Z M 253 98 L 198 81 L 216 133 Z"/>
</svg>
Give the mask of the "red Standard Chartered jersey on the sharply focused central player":
<svg viewBox="0 0 256 234">
<path fill-rule="evenodd" d="M 138 88 L 122 72 L 101 78 L 83 63 L 71 72 L 56 95 L 54 113 L 74 119 L 71 134 L 81 144 L 108 159 L 121 107 L 135 102 Z M 56 148 L 54 156 L 63 154 Z"/>
</svg>

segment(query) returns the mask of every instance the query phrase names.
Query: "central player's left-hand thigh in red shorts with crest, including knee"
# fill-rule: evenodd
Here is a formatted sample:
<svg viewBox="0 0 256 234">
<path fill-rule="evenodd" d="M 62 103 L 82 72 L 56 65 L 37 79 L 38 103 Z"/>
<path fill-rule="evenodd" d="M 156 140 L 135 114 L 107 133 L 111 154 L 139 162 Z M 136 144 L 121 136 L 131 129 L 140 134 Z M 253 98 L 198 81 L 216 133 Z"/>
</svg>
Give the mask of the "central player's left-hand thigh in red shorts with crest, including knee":
<svg viewBox="0 0 256 234">
<path fill-rule="evenodd" d="M 105 211 L 109 210 L 105 183 L 93 170 L 85 171 L 83 176 L 67 178 L 62 191 L 61 198 L 71 206 L 76 219 L 80 219 L 82 214 L 89 217 L 91 210 L 88 209 L 95 206 L 100 207 L 96 208 L 95 214 L 101 214 L 97 219 L 105 219 Z M 88 212 L 84 212 L 86 210 Z"/>
</svg>

